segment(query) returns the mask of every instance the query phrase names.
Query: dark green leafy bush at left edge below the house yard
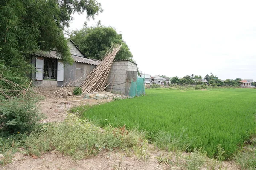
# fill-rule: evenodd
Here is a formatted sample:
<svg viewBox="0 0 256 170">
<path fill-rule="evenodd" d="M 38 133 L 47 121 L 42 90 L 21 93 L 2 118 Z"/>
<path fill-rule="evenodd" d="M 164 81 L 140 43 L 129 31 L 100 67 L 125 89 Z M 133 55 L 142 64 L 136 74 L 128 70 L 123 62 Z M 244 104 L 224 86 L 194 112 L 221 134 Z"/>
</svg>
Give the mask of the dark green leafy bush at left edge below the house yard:
<svg viewBox="0 0 256 170">
<path fill-rule="evenodd" d="M 37 99 L 28 97 L 0 101 L 0 122 L 2 133 L 24 133 L 35 127 L 41 115 L 36 106 Z"/>
</svg>

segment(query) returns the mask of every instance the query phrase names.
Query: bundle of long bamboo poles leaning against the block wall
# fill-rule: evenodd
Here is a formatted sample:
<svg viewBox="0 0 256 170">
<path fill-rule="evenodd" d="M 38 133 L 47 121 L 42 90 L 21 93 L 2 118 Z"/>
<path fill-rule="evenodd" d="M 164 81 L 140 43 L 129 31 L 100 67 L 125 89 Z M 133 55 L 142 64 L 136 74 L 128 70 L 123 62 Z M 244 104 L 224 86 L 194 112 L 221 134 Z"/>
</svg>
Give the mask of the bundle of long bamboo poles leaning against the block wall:
<svg viewBox="0 0 256 170">
<path fill-rule="evenodd" d="M 95 91 L 103 91 L 106 88 L 108 74 L 110 72 L 113 60 L 121 49 L 122 45 L 114 45 L 105 55 L 102 62 L 93 69 L 90 74 L 84 79 L 79 87 L 82 88 L 83 94 L 92 93 Z"/>
</svg>

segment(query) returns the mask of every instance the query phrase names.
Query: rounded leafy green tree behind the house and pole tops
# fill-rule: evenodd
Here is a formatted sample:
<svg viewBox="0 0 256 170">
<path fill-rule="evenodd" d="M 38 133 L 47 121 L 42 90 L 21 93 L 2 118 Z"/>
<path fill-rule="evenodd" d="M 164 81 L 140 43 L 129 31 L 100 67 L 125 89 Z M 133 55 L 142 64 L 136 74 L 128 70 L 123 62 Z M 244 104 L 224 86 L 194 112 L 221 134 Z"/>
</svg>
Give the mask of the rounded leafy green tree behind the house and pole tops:
<svg viewBox="0 0 256 170">
<path fill-rule="evenodd" d="M 73 31 L 70 38 L 88 58 L 102 59 L 113 44 L 121 43 L 122 48 L 115 59 L 132 59 L 133 57 L 128 45 L 122 39 L 122 34 L 117 34 L 112 27 L 102 26 L 100 22 L 96 27 L 84 27 Z"/>
</svg>

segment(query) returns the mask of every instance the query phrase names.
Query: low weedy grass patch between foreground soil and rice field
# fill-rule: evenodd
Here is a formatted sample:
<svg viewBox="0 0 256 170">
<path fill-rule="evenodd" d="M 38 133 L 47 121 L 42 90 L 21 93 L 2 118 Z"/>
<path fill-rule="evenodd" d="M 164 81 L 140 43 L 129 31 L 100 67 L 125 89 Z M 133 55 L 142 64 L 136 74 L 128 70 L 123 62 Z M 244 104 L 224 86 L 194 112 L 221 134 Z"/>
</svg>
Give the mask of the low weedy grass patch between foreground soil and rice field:
<svg viewBox="0 0 256 170">
<path fill-rule="evenodd" d="M 44 125 L 41 131 L 31 133 L 25 148 L 30 155 L 41 156 L 41 153 L 57 150 L 79 160 L 104 149 L 137 146 L 144 138 L 144 133 L 128 132 L 125 126 L 101 129 L 87 120 L 71 116 L 65 122 Z"/>
</svg>

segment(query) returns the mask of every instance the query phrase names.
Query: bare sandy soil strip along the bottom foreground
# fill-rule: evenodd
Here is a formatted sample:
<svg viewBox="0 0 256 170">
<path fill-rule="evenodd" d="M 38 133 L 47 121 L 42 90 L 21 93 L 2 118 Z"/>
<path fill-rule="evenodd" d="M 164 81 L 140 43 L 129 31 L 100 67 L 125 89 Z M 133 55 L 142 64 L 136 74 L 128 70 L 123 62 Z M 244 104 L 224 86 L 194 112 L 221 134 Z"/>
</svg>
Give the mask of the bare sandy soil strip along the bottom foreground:
<svg viewBox="0 0 256 170">
<path fill-rule="evenodd" d="M 163 154 L 163 152 L 161 152 Z M 188 155 L 189 153 L 182 153 Z M 40 158 L 32 158 L 22 153 L 16 153 L 12 163 L 2 170 L 186 170 L 185 161 L 182 159 L 177 164 L 159 164 L 156 157 L 160 151 L 152 151 L 148 160 L 138 160 L 136 156 L 127 156 L 122 150 L 102 151 L 98 156 L 93 156 L 80 161 L 73 161 L 69 156 L 52 151 L 44 153 Z M 175 162 L 175 156 L 172 159 Z M 223 170 L 239 170 L 233 162 L 223 162 Z M 209 166 L 201 170 L 208 170 Z M 216 169 L 217 170 L 217 169 Z"/>
</svg>

